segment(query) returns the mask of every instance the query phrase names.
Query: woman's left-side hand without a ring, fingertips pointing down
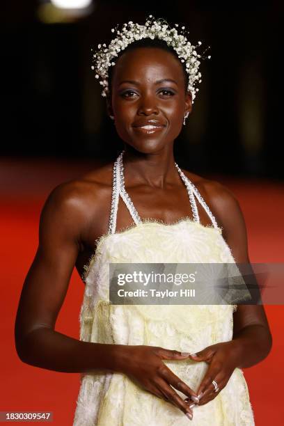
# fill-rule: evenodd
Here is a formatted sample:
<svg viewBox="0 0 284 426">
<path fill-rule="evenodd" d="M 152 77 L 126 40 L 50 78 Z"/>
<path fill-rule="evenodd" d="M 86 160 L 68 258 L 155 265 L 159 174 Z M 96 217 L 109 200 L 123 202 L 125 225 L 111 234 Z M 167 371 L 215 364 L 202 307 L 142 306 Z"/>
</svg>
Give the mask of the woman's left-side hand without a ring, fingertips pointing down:
<svg viewBox="0 0 284 426">
<path fill-rule="evenodd" d="M 120 355 L 120 372 L 137 381 L 140 386 L 157 397 L 171 402 L 182 410 L 192 420 L 192 409 L 184 402 L 182 397 L 171 387 L 180 390 L 187 395 L 197 397 L 197 394 L 176 376 L 164 363 L 163 359 L 182 361 L 189 354 L 182 356 L 181 352 L 164 349 L 162 347 L 136 345 L 122 345 L 123 352 Z"/>
</svg>

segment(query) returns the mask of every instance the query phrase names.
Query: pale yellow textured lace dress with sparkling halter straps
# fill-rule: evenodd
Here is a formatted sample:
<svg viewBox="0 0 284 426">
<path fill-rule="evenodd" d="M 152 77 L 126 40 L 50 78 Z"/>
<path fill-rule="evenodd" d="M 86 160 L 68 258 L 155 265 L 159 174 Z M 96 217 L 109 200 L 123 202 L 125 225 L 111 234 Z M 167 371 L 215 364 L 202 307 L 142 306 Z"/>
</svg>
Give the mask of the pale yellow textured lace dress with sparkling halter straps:
<svg viewBox="0 0 284 426">
<path fill-rule="evenodd" d="M 150 345 L 198 352 L 232 340 L 232 313 L 237 305 L 113 305 L 109 303 L 109 262 L 235 262 L 205 201 L 182 173 L 193 219 L 166 224 L 141 219 L 124 186 L 123 152 L 113 166 L 109 232 L 97 240 L 85 266 L 86 289 L 79 316 L 80 340 L 118 345 Z M 132 215 L 134 226 L 116 232 L 118 198 Z M 199 221 L 196 199 L 212 226 Z M 205 362 L 163 361 L 182 381 L 197 390 L 208 368 Z M 175 389 L 176 390 L 176 389 Z M 184 399 L 186 396 L 176 392 Z M 180 409 L 140 388 L 125 374 L 81 374 L 73 426 L 243 426 L 254 425 L 248 387 L 236 368 L 214 400 L 194 409 L 189 420 Z"/>
</svg>

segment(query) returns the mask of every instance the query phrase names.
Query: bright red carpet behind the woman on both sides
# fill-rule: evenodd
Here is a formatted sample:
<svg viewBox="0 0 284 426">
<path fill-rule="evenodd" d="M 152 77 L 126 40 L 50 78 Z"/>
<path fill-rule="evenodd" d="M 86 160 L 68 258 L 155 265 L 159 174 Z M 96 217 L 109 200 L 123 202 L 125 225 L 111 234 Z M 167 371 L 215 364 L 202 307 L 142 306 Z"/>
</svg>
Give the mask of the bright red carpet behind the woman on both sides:
<svg viewBox="0 0 284 426">
<path fill-rule="evenodd" d="M 38 219 L 49 191 L 79 175 L 88 164 L 1 160 L 1 390 L 0 411 L 53 411 L 54 426 L 72 425 L 79 374 L 34 368 L 15 352 L 14 322 L 19 294 L 38 244 Z M 13 177 L 13 179 L 12 179 Z M 2 179 L 3 178 L 3 179 Z M 284 184 L 219 178 L 235 193 L 248 228 L 251 262 L 284 262 Z M 79 308 L 84 284 L 74 271 L 56 330 L 79 336 Z M 283 425 L 283 306 L 265 306 L 274 338 L 269 356 L 244 374 L 250 390 L 255 424 Z M 5 423 L 6 424 L 6 423 Z M 22 423 L 17 423 L 22 424 Z M 26 424 L 26 423 L 23 423 Z M 212 425 L 213 426 L 213 425 Z M 237 425 L 236 425 L 237 426 Z"/>
</svg>

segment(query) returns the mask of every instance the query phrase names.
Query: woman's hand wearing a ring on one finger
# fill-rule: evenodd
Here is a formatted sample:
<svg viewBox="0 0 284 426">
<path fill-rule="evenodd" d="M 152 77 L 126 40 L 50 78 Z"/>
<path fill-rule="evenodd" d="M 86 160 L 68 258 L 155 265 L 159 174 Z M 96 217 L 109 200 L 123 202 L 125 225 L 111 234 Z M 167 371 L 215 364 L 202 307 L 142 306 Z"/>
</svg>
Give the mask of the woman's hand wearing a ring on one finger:
<svg viewBox="0 0 284 426">
<path fill-rule="evenodd" d="M 230 340 L 229 342 L 208 346 L 197 354 L 190 355 L 191 359 L 196 362 L 205 361 L 209 364 L 209 368 L 197 390 L 199 402 L 194 398 L 186 398 L 186 402 L 194 400 L 197 405 L 204 405 L 219 395 L 238 365 L 237 345 L 238 343 L 235 340 Z M 218 386 L 216 392 L 212 384 L 213 380 L 216 381 Z"/>
</svg>

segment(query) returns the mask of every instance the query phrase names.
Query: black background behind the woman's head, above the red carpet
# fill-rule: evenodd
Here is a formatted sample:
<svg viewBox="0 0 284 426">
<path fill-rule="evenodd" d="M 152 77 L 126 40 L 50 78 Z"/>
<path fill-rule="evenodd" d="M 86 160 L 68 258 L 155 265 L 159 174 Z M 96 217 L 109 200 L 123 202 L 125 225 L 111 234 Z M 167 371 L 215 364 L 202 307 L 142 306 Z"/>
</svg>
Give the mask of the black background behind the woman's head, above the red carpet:
<svg viewBox="0 0 284 426">
<path fill-rule="evenodd" d="M 152 14 L 211 46 L 175 155 L 199 173 L 283 180 L 283 8 L 277 1 L 94 1 L 48 23 L 47 1 L 1 2 L 3 157 L 113 159 L 122 147 L 90 70 L 111 28 Z"/>
</svg>

